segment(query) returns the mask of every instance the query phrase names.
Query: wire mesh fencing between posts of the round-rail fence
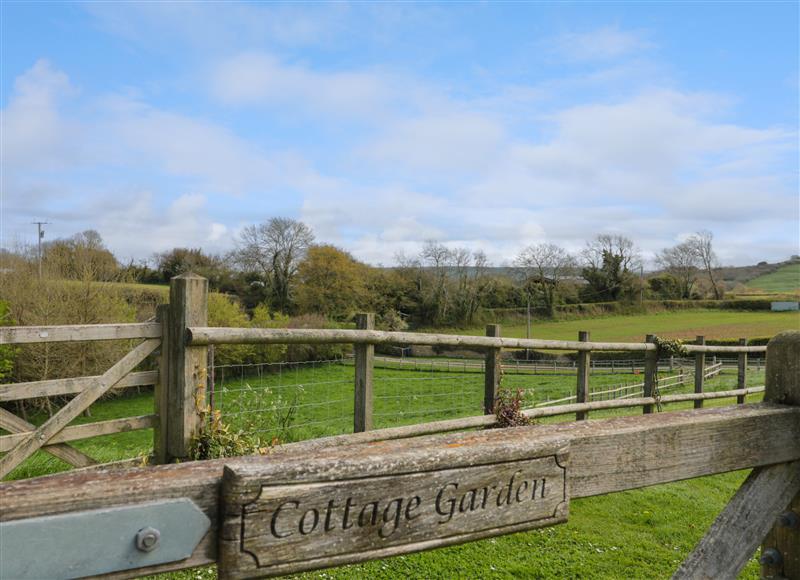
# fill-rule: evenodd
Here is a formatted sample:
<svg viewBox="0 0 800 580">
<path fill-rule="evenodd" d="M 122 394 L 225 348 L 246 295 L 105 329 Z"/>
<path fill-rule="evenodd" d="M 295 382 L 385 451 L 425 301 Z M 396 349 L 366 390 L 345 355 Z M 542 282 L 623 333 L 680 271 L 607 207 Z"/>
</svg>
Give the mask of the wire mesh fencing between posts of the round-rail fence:
<svg viewBox="0 0 800 580">
<path fill-rule="evenodd" d="M 600 361 L 598 361 L 600 362 Z M 602 361 L 607 363 L 608 361 Z M 636 363 L 591 367 L 589 402 L 641 397 L 644 369 Z M 707 361 L 704 390 L 738 386 L 736 360 Z M 631 364 L 632 363 L 632 364 Z M 662 360 L 658 394 L 694 391 L 694 359 Z M 576 402 L 572 361 L 547 368 L 504 361 L 502 387 L 519 390 L 522 406 Z M 747 386 L 763 384 L 764 367 L 748 365 Z M 480 415 L 482 359 L 377 356 L 373 365 L 373 427 L 380 429 Z M 227 364 L 209 369 L 209 400 L 231 428 L 263 441 L 291 442 L 353 432 L 355 367 L 352 356 L 307 362 Z"/>
</svg>

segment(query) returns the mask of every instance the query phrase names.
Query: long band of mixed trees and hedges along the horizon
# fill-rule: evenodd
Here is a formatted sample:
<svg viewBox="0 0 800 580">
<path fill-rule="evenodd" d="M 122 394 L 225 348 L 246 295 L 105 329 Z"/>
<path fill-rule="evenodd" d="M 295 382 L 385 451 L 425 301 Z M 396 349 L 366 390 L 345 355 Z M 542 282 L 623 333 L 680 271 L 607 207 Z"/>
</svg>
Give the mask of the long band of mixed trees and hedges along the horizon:
<svg viewBox="0 0 800 580">
<path fill-rule="evenodd" d="M 4 263 L 36 259 L 32 249 L 6 252 Z M 482 251 L 426 241 L 415 255 L 400 254 L 392 267 L 374 267 L 347 251 L 316 240 L 301 221 L 276 217 L 244 228 L 234 249 L 213 255 L 173 248 L 150 260 L 120 264 L 100 235 L 86 231 L 44 245 L 45 270 L 67 280 L 87 278 L 167 283 L 194 272 L 212 290 L 236 296 L 252 313 L 314 314 L 349 320 L 359 310 L 378 314 L 385 328 L 469 326 L 483 309 L 530 308 L 554 316 L 575 303 L 629 302 L 643 298 L 720 299 L 724 286 L 713 235 L 698 232 L 656 256 L 661 271 L 645 279 L 642 256 L 624 235 L 600 234 L 582 251 L 552 243 L 522 248 L 506 268 L 493 267 Z"/>
</svg>

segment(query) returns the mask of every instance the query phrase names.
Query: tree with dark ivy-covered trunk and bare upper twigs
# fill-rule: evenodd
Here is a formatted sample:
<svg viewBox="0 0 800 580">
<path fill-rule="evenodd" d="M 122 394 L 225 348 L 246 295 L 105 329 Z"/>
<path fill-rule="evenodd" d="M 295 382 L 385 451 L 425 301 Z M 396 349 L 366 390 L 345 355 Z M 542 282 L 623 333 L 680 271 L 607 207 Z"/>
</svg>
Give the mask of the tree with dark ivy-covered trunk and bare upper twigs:
<svg viewBox="0 0 800 580">
<path fill-rule="evenodd" d="M 587 302 L 632 298 L 638 288 L 633 271 L 641 257 L 633 240 L 621 235 L 601 234 L 586 243 L 582 252 L 586 280 L 582 297 Z"/>
</svg>

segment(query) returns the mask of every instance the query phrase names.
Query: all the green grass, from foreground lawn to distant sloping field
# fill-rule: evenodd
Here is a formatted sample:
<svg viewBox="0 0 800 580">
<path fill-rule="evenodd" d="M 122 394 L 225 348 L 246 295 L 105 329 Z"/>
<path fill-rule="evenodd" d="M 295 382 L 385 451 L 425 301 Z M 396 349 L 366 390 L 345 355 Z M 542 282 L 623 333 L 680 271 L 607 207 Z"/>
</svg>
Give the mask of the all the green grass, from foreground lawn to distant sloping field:
<svg viewBox="0 0 800 580">
<path fill-rule="evenodd" d="M 592 331 L 595 340 L 641 340 L 647 332 L 666 336 L 765 336 L 796 328 L 800 317 L 782 313 L 720 311 L 626 316 L 537 325 L 534 336 L 574 338 Z M 681 330 L 686 328 L 688 330 Z M 733 329 L 733 330 L 731 330 Z M 524 336 L 524 328 L 504 328 L 506 336 Z M 475 333 L 478 333 L 476 330 Z M 663 373 L 662 373 L 663 374 Z M 748 374 L 749 385 L 763 384 L 763 371 Z M 594 374 L 592 389 L 640 382 L 637 374 Z M 526 402 L 572 394 L 576 378 L 569 374 L 518 375 L 507 372 L 503 384 L 525 390 Z M 707 390 L 734 386 L 735 373 L 709 380 Z M 690 381 L 689 381 L 690 382 Z M 353 367 L 349 361 L 296 366 L 238 366 L 217 369 L 216 407 L 234 428 L 285 441 L 346 433 L 352 429 Z M 691 386 L 686 385 L 685 390 Z M 670 392 L 680 392 L 670 391 Z M 375 370 L 375 423 L 388 427 L 480 414 L 483 375 L 480 370 Z M 758 400 L 758 396 L 749 401 Z M 707 406 L 731 404 L 707 401 Z M 691 403 L 668 406 L 687 409 Z M 92 407 L 85 423 L 152 413 L 152 393 L 130 393 Z M 639 414 L 639 409 L 596 412 L 592 418 Z M 39 423 L 45 417 L 31 417 Z M 543 423 L 572 420 L 549 418 Z M 101 461 L 144 456 L 152 449 L 152 431 L 142 430 L 75 442 Z M 33 477 L 66 469 L 37 453 L 12 473 Z M 301 578 L 664 578 L 669 577 L 704 534 L 714 517 L 741 484 L 744 472 L 676 482 L 653 488 L 572 502 L 569 523 L 517 533 L 462 546 L 346 566 L 301 575 Z M 174 579 L 214 578 L 213 567 L 172 573 Z M 757 578 L 752 561 L 743 578 Z M 162 576 L 163 578 L 163 576 Z"/>
</svg>

